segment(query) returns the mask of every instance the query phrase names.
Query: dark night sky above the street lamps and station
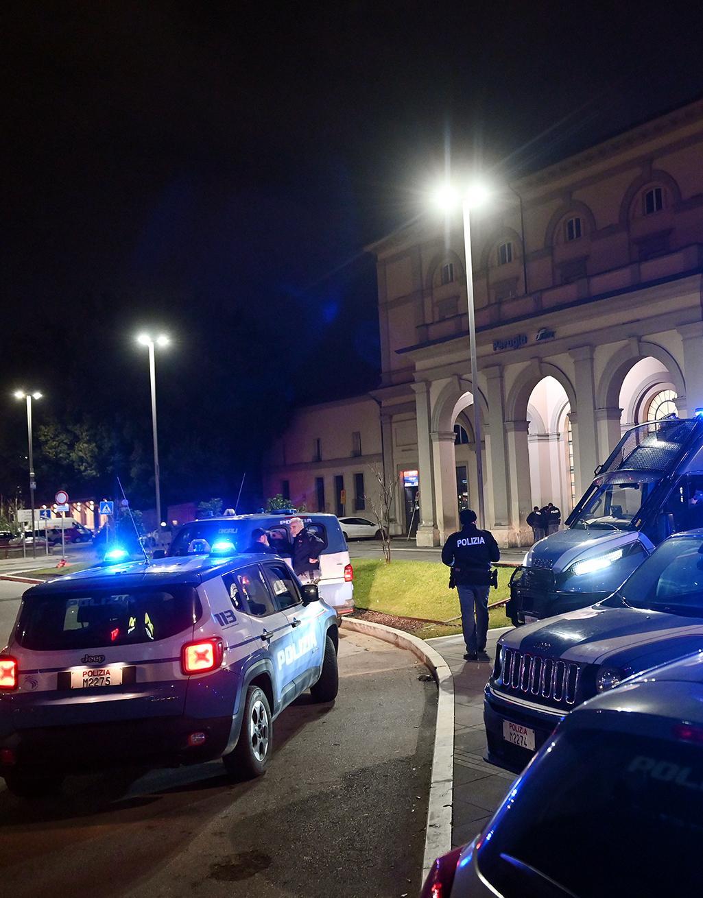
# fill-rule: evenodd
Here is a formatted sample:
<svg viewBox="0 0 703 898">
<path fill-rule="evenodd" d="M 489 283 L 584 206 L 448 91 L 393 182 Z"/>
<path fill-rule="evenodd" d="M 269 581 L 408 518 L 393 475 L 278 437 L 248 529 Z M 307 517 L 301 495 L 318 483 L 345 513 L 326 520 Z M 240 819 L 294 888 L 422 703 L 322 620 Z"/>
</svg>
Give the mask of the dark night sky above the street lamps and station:
<svg viewBox="0 0 703 898">
<path fill-rule="evenodd" d="M 110 476 L 147 502 L 133 337 L 156 324 L 175 341 L 158 360 L 165 501 L 230 497 L 246 470 L 254 502 L 296 404 L 378 383 L 362 248 L 421 214 L 447 147 L 510 179 L 703 92 L 699 4 L 18 2 L 2 18 L 4 495 L 26 480 L 10 392 L 31 386 L 38 426 L 110 432 Z M 37 467 L 40 492 L 108 489 Z"/>
</svg>

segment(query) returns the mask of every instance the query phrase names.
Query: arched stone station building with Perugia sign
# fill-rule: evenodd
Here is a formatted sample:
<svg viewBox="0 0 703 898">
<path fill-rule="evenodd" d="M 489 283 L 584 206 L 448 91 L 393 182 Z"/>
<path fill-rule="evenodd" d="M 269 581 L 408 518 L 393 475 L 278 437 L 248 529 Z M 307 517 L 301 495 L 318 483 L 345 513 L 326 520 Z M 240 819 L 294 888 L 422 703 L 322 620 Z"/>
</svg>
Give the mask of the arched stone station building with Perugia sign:
<svg viewBox="0 0 703 898">
<path fill-rule="evenodd" d="M 269 493 L 362 515 L 380 466 L 396 535 L 440 544 L 476 502 L 480 414 L 486 525 L 521 545 L 532 506 L 565 516 L 623 430 L 703 407 L 703 101 L 511 187 L 472 213 L 478 383 L 461 223 L 428 216 L 368 248 L 378 389 L 300 409 Z"/>
</svg>

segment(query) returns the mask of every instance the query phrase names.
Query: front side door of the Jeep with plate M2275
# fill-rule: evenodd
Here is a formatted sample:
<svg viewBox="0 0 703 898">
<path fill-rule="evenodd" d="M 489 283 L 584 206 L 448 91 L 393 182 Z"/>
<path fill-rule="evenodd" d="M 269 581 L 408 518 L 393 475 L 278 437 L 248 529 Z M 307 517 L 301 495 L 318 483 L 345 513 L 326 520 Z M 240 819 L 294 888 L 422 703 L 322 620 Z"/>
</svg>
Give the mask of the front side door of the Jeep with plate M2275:
<svg viewBox="0 0 703 898">
<path fill-rule="evenodd" d="M 320 630 L 322 606 L 304 605 L 298 580 L 290 568 L 280 561 L 263 564 L 271 594 L 280 612 L 289 622 L 285 639 L 275 653 L 276 671 L 286 682 L 292 698 L 315 682 L 325 650 Z"/>
</svg>

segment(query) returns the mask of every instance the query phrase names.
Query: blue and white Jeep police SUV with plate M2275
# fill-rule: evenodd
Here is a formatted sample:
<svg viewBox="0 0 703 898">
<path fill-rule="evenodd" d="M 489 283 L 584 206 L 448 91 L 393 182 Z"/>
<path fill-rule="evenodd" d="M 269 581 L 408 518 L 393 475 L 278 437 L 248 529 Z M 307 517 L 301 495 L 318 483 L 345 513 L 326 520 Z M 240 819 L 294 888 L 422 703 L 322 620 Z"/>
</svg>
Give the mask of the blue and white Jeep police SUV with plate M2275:
<svg viewBox="0 0 703 898">
<path fill-rule="evenodd" d="M 259 776 L 280 712 L 334 700 L 338 623 L 285 561 L 223 541 L 34 586 L 0 654 L 0 775 L 26 796 L 123 763 Z"/>
</svg>

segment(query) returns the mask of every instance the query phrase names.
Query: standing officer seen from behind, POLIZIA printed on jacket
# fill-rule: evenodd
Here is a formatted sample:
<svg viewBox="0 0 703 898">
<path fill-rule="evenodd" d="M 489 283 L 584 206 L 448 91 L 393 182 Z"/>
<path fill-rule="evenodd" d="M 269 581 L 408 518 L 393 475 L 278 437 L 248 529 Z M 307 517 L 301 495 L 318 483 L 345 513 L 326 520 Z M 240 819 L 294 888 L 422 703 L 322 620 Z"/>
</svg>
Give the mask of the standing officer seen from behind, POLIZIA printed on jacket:
<svg viewBox="0 0 703 898">
<path fill-rule="evenodd" d="M 485 650 L 488 633 L 488 591 L 491 562 L 501 557 L 493 533 L 476 527 L 476 512 L 465 508 L 459 515 L 461 530 L 452 533 L 441 550 L 441 559 L 452 569 L 461 606 L 461 628 L 467 661 L 477 661 Z"/>
</svg>

